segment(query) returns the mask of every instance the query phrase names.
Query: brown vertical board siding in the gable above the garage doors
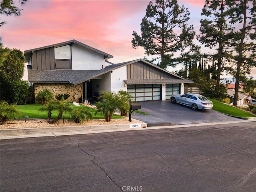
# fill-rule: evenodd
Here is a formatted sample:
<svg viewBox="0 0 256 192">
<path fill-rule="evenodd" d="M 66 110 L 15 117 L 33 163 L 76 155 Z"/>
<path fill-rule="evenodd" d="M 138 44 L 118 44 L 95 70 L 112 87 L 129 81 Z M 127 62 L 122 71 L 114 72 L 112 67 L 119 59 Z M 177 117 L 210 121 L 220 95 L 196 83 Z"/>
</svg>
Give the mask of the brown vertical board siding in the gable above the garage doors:
<svg viewBox="0 0 256 192">
<path fill-rule="evenodd" d="M 161 70 L 144 64 L 143 62 L 135 62 L 127 65 L 127 79 L 169 79 L 176 78 L 170 74 L 166 74 Z"/>
</svg>

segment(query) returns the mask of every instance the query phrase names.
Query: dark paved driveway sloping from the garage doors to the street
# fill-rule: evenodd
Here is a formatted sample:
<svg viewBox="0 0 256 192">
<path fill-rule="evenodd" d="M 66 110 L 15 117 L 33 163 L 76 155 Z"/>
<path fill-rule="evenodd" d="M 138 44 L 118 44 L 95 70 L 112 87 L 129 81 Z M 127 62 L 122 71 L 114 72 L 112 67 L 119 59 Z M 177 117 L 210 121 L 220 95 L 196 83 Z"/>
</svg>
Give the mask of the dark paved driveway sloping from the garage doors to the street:
<svg viewBox="0 0 256 192">
<path fill-rule="evenodd" d="M 140 111 L 150 115 L 135 113 L 132 118 L 143 121 L 148 126 L 180 125 L 206 122 L 227 122 L 240 120 L 220 112 L 210 110 L 192 110 L 192 108 L 181 104 L 172 104 L 166 101 L 138 102 Z"/>
</svg>

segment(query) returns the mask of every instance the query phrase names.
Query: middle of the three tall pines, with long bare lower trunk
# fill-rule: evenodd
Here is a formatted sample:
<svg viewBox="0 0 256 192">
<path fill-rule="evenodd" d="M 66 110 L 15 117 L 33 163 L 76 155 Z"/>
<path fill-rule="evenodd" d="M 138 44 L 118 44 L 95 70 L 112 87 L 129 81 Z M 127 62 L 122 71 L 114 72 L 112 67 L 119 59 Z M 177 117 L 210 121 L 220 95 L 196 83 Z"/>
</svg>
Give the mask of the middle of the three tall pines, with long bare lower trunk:
<svg viewBox="0 0 256 192">
<path fill-rule="evenodd" d="M 229 1 L 229 5 L 235 1 Z M 227 6 L 225 0 L 206 0 L 201 15 L 206 16 L 200 20 L 200 34 L 197 39 L 209 48 L 216 48 L 217 56 L 217 71 L 216 71 L 216 91 L 220 87 L 220 76 L 223 71 L 224 59 L 230 58 L 228 52 L 229 38 L 231 26 L 228 25 L 228 20 L 232 17 L 233 10 Z"/>
</svg>

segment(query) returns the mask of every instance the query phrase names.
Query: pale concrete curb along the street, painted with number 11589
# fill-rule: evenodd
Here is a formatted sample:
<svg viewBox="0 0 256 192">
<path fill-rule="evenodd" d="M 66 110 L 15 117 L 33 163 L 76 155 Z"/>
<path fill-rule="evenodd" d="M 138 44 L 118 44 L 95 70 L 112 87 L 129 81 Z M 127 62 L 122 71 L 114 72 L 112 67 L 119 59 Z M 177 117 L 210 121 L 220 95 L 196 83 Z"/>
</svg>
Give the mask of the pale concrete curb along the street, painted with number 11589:
<svg viewBox="0 0 256 192">
<path fill-rule="evenodd" d="M 236 123 L 252 122 L 256 124 L 256 118 L 248 120 L 238 120 Z M 59 126 L 59 127 L 45 127 L 45 128 L 16 128 L 16 129 L 2 129 L 0 130 L 0 140 L 15 139 L 15 138 L 31 138 L 31 137 L 46 137 L 46 136 L 63 136 L 63 135 L 77 135 L 77 134 L 93 134 L 116 131 L 134 131 L 134 130 L 152 130 L 165 128 L 182 128 L 194 126 L 208 126 L 216 124 L 232 124 L 234 121 L 227 122 L 209 122 L 198 124 L 156 124 L 155 126 L 148 126 L 146 123 L 134 124 L 113 124 L 113 125 L 91 125 L 91 126 Z"/>
</svg>

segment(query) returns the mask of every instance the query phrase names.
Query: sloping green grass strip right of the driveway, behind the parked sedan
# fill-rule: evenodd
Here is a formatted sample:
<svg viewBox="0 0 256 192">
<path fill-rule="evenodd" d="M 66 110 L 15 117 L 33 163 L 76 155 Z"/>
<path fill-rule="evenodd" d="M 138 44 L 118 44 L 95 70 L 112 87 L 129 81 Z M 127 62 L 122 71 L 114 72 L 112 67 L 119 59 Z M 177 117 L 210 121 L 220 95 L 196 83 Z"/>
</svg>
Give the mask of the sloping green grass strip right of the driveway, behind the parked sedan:
<svg viewBox="0 0 256 192">
<path fill-rule="evenodd" d="M 224 113 L 227 115 L 235 116 L 235 117 L 242 117 L 242 118 L 255 117 L 255 115 L 252 115 L 248 112 L 245 112 L 245 111 L 235 108 L 233 106 L 223 104 L 223 103 L 218 102 L 213 99 L 209 99 L 209 100 L 212 101 L 213 110 L 215 110 L 215 111 L 218 111 L 218 112 L 221 112 L 221 113 Z"/>
</svg>

